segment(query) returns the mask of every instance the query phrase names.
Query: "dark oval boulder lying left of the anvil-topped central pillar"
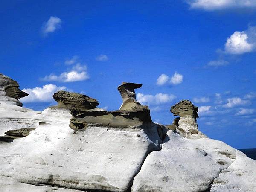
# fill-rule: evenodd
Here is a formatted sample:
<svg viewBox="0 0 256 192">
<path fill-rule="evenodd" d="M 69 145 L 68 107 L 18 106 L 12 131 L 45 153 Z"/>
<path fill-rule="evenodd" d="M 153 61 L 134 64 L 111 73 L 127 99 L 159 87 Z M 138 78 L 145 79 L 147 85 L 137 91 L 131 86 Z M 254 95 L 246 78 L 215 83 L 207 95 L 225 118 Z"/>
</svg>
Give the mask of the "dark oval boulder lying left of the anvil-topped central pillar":
<svg viewBox="0 0 256 192">
<path fill-rule="evenodd" d="M 54 93 L 53 99 L 58 102 L 60 106 L 66 107 L 70 110 L 93 109 L 99 105 L 96 99 L 79 93 L 70 93 L 67 91 L 58 91 L 57 93 Z"/>
</svg>

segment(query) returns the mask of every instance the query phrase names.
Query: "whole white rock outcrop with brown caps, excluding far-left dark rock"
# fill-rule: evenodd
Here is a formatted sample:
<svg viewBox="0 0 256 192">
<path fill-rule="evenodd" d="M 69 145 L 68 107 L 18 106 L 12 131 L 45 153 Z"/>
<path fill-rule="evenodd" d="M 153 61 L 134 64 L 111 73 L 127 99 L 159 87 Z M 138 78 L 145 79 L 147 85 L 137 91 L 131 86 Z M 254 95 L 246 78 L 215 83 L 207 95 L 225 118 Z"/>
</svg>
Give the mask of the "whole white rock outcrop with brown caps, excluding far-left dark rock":
<svg viewBox="0 0 256 192">
<path fill-rule="evenodd" d="M 1 101 L 0 191 L 256 191 L 256 161 L 198 131 L 191 102 L 164 126 L 126 86 L 116 111 L 69 92 L 42 112 Z"/>
</svg>

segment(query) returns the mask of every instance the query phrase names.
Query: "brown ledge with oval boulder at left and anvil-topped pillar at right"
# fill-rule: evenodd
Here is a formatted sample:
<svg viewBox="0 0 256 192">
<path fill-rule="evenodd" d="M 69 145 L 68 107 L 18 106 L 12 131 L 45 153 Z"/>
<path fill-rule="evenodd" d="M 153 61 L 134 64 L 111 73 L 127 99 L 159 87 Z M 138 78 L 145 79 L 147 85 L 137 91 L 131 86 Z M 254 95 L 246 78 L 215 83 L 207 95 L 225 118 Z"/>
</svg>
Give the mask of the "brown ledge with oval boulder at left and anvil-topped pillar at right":
<svg viewBox="0 0 256 192">
<path fill-rule="evenodd" d="M 70 110 L 70 128 L 83 129 L 88 126 L 107 126 L 110 128 L 140 127 L 145 123 L 152 123 L 148 106 L 136 101 L 134 89 L 142 84 L 123 83 L 118 90 L 123 98 L 123 104 L 119 110 L 105 111 L 97 108 L 96 99 L 89 96 L 58 91 L 53 98 L 60 107 Z"/>
</svg>

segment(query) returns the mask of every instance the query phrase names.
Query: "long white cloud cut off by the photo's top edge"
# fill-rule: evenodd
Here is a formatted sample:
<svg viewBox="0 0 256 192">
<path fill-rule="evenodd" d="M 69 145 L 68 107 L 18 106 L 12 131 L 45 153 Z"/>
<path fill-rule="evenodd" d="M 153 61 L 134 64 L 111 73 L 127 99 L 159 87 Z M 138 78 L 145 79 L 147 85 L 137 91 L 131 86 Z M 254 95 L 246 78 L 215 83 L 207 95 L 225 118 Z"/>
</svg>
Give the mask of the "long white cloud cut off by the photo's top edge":
<svg viewBox="0 0 256 192">
<path fill-rule="evenodd" d="M 192 9 L 207 11 L 256 7 L 255 0 L 186 0 Z"/>
</svg>

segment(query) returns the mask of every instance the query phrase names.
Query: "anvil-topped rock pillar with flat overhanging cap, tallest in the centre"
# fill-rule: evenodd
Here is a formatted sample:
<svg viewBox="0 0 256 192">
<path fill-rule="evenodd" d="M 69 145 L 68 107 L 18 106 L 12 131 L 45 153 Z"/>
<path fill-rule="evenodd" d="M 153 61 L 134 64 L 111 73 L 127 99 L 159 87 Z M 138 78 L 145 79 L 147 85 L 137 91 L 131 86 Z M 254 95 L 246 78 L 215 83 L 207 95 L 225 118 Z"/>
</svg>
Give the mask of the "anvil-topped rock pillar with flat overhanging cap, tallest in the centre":
<svg viewBox="0 0 256 192">
<path fill-rule="evenodd" d="M 123 103 L 119 110 L 132 110 L 133 107 L 140 105 L 136 100 L 134 89 L 138 89 L 141 86 L 142 84 L 122 82 L 122 84 L 117 87 L 117 90 L 120 92 L 123 99 Z"/>
</svg>

